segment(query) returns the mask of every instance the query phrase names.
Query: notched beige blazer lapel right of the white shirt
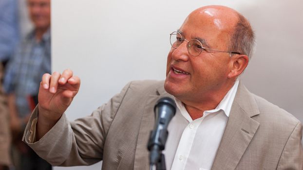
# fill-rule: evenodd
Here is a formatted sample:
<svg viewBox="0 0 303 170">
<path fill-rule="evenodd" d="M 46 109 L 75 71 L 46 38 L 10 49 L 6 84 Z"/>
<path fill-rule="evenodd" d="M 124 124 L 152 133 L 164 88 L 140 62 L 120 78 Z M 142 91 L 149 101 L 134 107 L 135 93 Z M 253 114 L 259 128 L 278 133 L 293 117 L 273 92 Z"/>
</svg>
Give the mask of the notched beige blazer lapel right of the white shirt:
<svg viewBox="0 0 303 170">
<path fill-rule="evenodd" d="M 259 113 L 252 94 L 240 82 L 212 170 L 236 168 L 259 127 L 251 117 Z"/>
</svg>

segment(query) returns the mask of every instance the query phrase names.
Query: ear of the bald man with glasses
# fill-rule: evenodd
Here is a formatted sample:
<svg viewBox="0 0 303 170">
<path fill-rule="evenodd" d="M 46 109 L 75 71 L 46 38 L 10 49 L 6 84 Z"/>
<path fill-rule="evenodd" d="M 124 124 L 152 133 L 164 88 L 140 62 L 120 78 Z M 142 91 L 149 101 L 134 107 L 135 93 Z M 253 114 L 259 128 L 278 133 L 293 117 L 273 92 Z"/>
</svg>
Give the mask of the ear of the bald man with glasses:
<svg viewBox="0 0 303 170">
<path fill-rule="evenodd" d="M 234 55 L 230 59 L 230 72 L 228 78 L 238 77 L 248 65 L 247 55 Z"/>
</svg>

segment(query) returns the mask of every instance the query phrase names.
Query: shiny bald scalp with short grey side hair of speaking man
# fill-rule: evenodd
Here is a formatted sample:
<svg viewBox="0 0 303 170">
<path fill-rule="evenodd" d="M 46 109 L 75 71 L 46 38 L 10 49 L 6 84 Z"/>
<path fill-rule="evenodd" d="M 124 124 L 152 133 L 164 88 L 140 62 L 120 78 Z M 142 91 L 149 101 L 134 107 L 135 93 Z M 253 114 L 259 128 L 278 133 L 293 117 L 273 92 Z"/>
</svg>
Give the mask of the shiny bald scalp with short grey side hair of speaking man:
<svg viewBox="0 0 303 170">
<path fill-rule="evenodd" d="M 210 5 L 191 12 L 185 22 L 194 20 L 201 27 L 219 31 L 227 43 L 227 51 L 236 51 L 252 55 L 254 33 L 248 22 L 240 13 L 226 6 Z"/>
</svg>

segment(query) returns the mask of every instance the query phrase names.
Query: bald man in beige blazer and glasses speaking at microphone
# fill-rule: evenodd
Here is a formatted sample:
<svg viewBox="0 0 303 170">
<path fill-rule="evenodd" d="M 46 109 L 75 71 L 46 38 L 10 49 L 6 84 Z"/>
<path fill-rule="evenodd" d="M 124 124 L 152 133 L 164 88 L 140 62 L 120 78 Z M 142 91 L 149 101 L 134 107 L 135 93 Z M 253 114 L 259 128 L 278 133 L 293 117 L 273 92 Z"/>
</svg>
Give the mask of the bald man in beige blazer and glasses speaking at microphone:
<svg viewBox="0 0 303 170">
<path fill-rule="evenodd" d="M 170 34 L 165 82 L 131 82 L 75 122 L 64 112 L 80 79 L 71 70 L 44 74 L 23 141 L 53 165 L 103 160 L 103 170 L 148 170 L 153 106 L 170 96 L 178 109 L 165 148 L 168 169 L 301 170 L 301 122 L 251 94 L 238 79 L 253 42 L 249 22 L 238 12 L 199 8 Z"/>
</svg>

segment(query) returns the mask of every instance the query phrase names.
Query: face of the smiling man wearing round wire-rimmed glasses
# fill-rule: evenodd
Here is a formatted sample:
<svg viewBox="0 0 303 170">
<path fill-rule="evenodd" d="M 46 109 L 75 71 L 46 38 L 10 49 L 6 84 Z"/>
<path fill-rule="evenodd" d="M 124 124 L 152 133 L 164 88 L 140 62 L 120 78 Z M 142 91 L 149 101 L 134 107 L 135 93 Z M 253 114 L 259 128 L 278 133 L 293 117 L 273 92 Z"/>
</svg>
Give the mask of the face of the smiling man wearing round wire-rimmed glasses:
<svg viewBox="0 0 303 170">
<path fill-rule="evenodd" d="M 227 51 L 228 35 L 233 30 L 234 18 L 226 19 L 222 12 L 209 7 L 192 12 L 179 29 L 182 37 L 187 40 L 205 39 L 208 45 L 206 48 Z M 228 65 L 229 53 L 204 51 L 194 57 L 189 54 L 187 41 L 184 41 L 177 49 L 170 49 L 164 87 L 182 102 L 216 95 L 227 81 L 230 71 Z"/>
</svg>

